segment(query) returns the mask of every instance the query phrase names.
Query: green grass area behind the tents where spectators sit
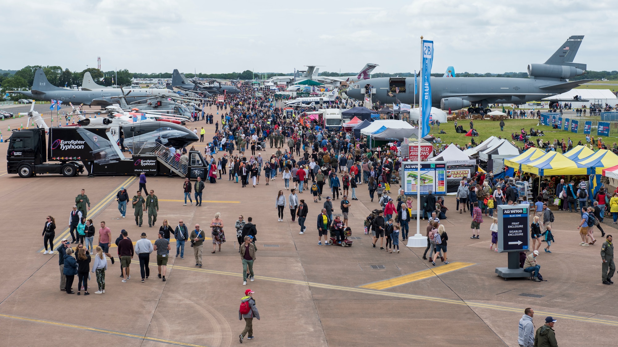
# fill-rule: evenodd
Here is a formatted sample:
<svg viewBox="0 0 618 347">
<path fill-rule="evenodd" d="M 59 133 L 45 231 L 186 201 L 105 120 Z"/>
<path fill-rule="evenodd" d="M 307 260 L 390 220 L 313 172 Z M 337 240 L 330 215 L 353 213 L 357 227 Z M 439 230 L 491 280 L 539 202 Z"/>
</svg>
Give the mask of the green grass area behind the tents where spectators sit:
<svg viewBox="0 0 618 347">
<path fill-rule="evenodd" d="M 598 122 L 600 117 L 578 117 L 580 120 L 580 132 L 572 133 L 565 130 L 556 130 L 552 127 L 548 127 L 546 125 L 538 125 L 539 119 L 506 119 L 504 120 L 504 132 L 500 131 L 500 122 L 494 120 L 473 120 L 474 128 L 478 132 L 478 136 L 474 138 L 476 143 L 480 143 L 480 141 L 485 141 L 489 136 L 502 136 L 502 138 L 507 138 L 510 140 L 511 133 L 519 134 L 522 128 L 525 128 L 526 132 L 530 132 L 530 128 L 535 128 L 538 130 L 543 130 L 545 136 L 543 136 L 543 141 L 554 141 L 554 138 L 558 141 L 561 141 L 562 138 L 567 140 L 567 138 L 571 138 L 573 144 L 577 144 L 577 141 L 582 141 L 582 143 L 586 143 L 586 135 L 582 133 L 583 129 L 583 121 L 584 120 L 592 120 Z M 470 129 L 470 120 L 469 119 L 459 119 L 457 120 L 457 125 L 462 125 L 465 130 Z M 456 133 L 454 122 L 442 123 L 440 128 L 443 129 L 446 134 L 439 134 L 438 128 L 434 127 L 433 131 L 430 131 L 430 134 L 436 137 L 440 137 L 442 143 L 450 144 L 455 143 L 460 146 L 465 146 L 470 143 L 470 136 L 464 136 L 464 134 Z M 595 136 L 596 139 L 596 131 L 593 130 L 592 135 Z M 538 137 L 532 137 L 532 140 L 538 140 Z M 606 138 L 609 140 L 604 140 L 607 146 L 611 146 L 614 142 L 618 142 L 618 138 L 609 137 Z M 520 141 L 515 141 L 515 144 L 519 148 L 523 147 L 523 143 Z"/>
</svg>

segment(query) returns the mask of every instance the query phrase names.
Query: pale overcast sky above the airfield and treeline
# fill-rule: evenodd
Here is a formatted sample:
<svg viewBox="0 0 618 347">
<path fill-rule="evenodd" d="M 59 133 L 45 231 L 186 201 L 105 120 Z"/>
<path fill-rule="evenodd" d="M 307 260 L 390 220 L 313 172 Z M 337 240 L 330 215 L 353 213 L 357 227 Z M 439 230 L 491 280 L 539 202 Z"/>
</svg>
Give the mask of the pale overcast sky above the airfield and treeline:
<svg viewBox="0 0 618 347">
<path fill-rule="evenodd" d="M 412 72 L 420 36 L 433 72 L 524 72 L 570 35 L 575 62 L 618 70 L 618 15 L 605 0 L 544 1 L 13 1 L 0 0 L 0 69 L 60 65 L 81 71 L 223 73 Z M 8 54 L 7 54 L 8 52 Z"/>
</svg>

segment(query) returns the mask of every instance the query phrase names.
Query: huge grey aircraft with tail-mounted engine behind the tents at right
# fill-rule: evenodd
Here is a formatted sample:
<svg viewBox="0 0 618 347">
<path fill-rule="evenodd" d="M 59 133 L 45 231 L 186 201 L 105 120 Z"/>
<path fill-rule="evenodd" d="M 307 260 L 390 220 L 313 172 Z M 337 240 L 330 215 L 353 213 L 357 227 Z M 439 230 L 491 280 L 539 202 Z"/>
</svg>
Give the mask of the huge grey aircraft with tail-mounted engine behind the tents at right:
<svg viewBox="0 0 618 347">
<path fill-rule="evenodd" d="M 479 105 L 486 109 L 488 104 L 524 104 L 548 96 L 564 93 L 589 80 L 569 82 L 567 78 L 583 75 L 586 64 L 574 63 L 575 54 L 582 44 L 583 36 L 570 36 L 544 64 L 528 65 L 530 78 L 509 77 L 431 77 L 431 103 L 443 110 L 459 110 Z M 371 92 L 372 101 L 383 104 L 415 101 L 414 77 L 379 77 L 350 85 L 345 93 L 363 100 Z M 418 79 L 420 92 L 421 80 Z M 416 94 L 418 103 L 420 94 Z M 575 101 L 579 101 L 576 98 Z M 478 109 L 476 110 L 478 111 Z"/>
</svg>

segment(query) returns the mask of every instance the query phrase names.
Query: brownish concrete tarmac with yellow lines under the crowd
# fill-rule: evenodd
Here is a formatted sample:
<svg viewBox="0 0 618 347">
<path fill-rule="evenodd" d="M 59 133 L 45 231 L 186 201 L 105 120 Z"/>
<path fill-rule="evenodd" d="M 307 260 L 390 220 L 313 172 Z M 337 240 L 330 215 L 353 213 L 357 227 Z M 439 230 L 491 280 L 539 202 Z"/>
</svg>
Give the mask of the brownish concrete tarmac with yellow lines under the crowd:
<svg viewBox="0 0 618 347">
<path fill-rule="evenodd" d="M 220 123 L 216 109 L 210 112 Z M 14 129 L 20 122 L 0 122 L 4 140 L 6 127 Z M 201 126 L 207 130 L 206 138 L 214 133 L 214 124 L 187 124 Z M 203 150 L 205 143 L 195 146 Z M 258 152 L 263 157 L 276 151 L 266 147 Z M 0 151 L 6 149 L 7 144 L 0 143 Z M 352 201 L 350 207 L 352 236 L 358 239 L 352 247 L 342 248 L 318 246 L 316 216 L 324 199 L 313 203 L 308 191 L 299 194 L 309 207 L 303 235 L 298 234 L 298 224 L 292 223 L 289 209 L 284 222 L 275 221 L 274 199 L 278 190 L 284 190 L 281 175 L 268 186 L 262 177 L 256 188 L 241 188 L 227 176 L 216 184 L 206 183 L 201 207 L 182 206 L 180 178 L 148 177 L 146 186 L 155 190 L 160 209 L 155 227 L 145 223 L 140 228 L 133 222 L 132 209 L 127 218 L 120 218 L 113 199 L 121 185 L 133 196 L 138 188 L 135 177 L 19 178 L 6 174 L 4 156 L 0 164 L 4 168 L 0 169 L 0 218 L 4 220 L 0 228 L 0 346 L 39 346 L 66 338 L 109 346 L 239 345 L 244 322 L 238 320 L 238 307 L 248 288 L 255 291 L 261 316 L 253 322 L 255 340 L 244 341 L 252 346 L 517 346 L 517 325 L 525 307 L 535 310 L 537 328 L 546 316 L 558 320 L 554 330 L 561 346 L 613 345 L 618 333 L 618 289 L 601 283 L 599 251 L 604 238 L 596 232 L 596 245 L 579 246 L 575 213 L 554 212 L 556 242 L 552 253 L 544 253 L 542 246 L 538 256 L 547 282 L 504 281 L 494 269 L 506 266 L 507 256 L 489 251 L 491 219 L 483 217 L 480 240 L 470 239 L 470 214 L 457 213 L 453 197 L 446 199 L 450 211 L 448 219 L 442 220 L 449 233 L 451 264 L 433 267 L 421 259 L 425 248 L 407 248 L 404 241 L 400 241 L 399 254 L 371 248 L 370 236 L 363 234 L 363 221 L 378 203 L 377 199 L 370 201 L 364 184 L 357 188 L 360 201 Z M 82 188 L 90 198 L 89 217 L 97 230 L 105 220 L 114 238 L 124 228 L 133 241 L 142 232 L 154 240 L 163 219 L 175 227 L 179 218 L 190 229 L 199 223 L 210 236 L 210 220 L 221 212 L 227 242 L 221 252 L 212 254 L 212 243 L 206 240 L 203 267 L 198 268 L 188 243 L 185 259 L 173 257 L 176 244 L 172 238 L 167 282 L 157 278 L 156 256 L 152 255 L 150 278 L 141 283 L 135 256 L 127 283 L 121 282 L 116 262 L 106 272 L 105 294 L 93 294 L 93 276 L 88 282 L 92 295 L 67 295 L 59 290 L 58 256 L 42 253 L 40 235 L 46 215 L 53 215 L 57 247 L 68 227 L 70 207 Z M 396 196 L 396 187 L 391 191 Z M 287 197 L 289 191 L 284 194 Z M 336 214 L 341 213 L 339 203 L 333 201 Z M 246 286 L 242 285 L 234 228 L 240 214 L 245 220 L 253 217 L 258 230 L 256 279 Z M 421 220 L 420 226 L 424 234 L 426 222 Z M 413 234 L 415 221 L 410 227 Z M 98 232 L 95 243 L 97 237 Z M 114 254 L 116 248 L 110 251 Z M 383 269 L 371 265 L 383 265 Z M 74 290 L 76 286 L 77 278 Z"/>
</svg>

